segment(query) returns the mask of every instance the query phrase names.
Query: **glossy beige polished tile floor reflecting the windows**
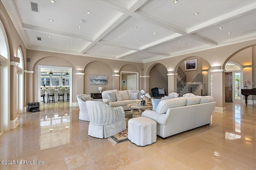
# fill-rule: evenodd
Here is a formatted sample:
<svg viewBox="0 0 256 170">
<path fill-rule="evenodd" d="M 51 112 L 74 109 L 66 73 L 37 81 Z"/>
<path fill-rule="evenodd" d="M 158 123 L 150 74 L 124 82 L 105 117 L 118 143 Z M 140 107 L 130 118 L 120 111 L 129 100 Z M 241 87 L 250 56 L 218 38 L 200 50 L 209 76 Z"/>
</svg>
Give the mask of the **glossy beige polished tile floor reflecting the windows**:
<svg viewBox="0 0 256 170">
<path fill-rule="evenodd" d="M 79 108 L 68 104 L 42 104 L 40 112 L 20 114 L 18 127 L 0 136 L 0 160 L 15 164 L 0 169 L 256 169 L 255 104 L 227 103 L 209 126 L 158 137 L 145 147 L 88 136 L 89 122 L 78 120 Z"/>
</svg>

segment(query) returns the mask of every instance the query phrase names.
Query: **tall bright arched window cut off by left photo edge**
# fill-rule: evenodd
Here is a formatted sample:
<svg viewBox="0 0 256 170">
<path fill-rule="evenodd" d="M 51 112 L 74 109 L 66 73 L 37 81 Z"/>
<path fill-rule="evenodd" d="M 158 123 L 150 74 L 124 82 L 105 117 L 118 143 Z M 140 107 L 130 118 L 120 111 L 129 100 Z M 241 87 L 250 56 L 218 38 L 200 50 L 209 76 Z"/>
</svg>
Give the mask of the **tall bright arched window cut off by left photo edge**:
<svg viewBox="0 0 256 170">
<path fill-rule="evenodd" d="M 0 134 L 10 130 L 10 53 L 4 26 L 0 21 Z"/>
</svg>

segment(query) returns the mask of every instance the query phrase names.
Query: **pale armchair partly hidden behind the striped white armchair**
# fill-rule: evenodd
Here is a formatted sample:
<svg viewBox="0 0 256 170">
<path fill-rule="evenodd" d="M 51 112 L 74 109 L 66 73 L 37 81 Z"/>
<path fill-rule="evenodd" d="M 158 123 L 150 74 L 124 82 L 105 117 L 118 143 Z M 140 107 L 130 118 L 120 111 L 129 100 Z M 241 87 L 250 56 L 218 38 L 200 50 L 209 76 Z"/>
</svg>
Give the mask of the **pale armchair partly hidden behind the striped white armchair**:
<svg viewBox="0 0 256 170">
<path fill-rule="evenodd" d="M 83 120 L 83 121 L 90 121 L 89 116 L 88 116 L 87 107 L 86 107 L 86 101 L 94 100 L 94 101 L 102 102 L 102 99 L 93 99 L 88 94 L 78 94 L 76 96 L 76 99 L 77 99 L 78 107 L 79 107 L 78 119 Z"/>
</svg>

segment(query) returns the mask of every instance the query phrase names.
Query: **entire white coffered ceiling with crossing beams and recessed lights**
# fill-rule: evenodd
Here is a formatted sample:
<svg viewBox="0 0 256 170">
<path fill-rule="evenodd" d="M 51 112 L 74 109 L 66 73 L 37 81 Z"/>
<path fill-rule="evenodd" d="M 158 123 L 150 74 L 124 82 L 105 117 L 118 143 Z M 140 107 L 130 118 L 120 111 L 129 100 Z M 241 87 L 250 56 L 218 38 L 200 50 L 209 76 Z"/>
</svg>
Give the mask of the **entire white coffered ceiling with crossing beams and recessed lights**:
<svg viewBox="0 0 256 170">
<path fill-rule="evenodd" d="M 32 50 L 143 63 L 256 39 L 256 0 L 2 2 Z"/>
</svg>

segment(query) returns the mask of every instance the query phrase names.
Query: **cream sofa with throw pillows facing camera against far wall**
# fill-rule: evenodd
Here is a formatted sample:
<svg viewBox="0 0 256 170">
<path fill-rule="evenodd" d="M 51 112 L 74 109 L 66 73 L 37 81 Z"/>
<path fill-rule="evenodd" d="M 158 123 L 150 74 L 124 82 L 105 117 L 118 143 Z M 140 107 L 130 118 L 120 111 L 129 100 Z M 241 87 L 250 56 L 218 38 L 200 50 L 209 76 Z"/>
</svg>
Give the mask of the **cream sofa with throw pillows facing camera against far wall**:
<svg viewBox="0 0 256 170">
<path fill-rule="evenodd" d="M 134 93 L 138 92 L 138 96 L 134 97 Z M 108 94 L 115 94 L 116 100 L 110 98 Z M 119 94 L 119 95 L 118 95 Z M 111 107 L 122 106 L 124 110 L 129 110 L 128 104 L 131 103 L 140 103 L 141 102 L 141 93 L 139 90 L 106 90 L 102 92 L 102 101 L 108 104 Z"/>
</svg>

